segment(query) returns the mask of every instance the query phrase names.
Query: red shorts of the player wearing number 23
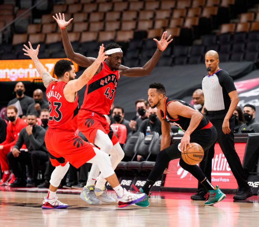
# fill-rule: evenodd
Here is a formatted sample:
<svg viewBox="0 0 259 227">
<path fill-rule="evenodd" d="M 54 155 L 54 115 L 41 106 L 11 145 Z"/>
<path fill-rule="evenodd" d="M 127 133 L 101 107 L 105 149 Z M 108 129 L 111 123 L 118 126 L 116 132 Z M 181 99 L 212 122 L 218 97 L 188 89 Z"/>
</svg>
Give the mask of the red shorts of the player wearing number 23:
<svg viewBox="0 0 259 227">
<path fill-rule="evenodd" d="M 45 143 L 53 166 L 65 166 L 69 162 L 79 168 L 95 157 L 95 146 L 85 142 L 75 132 L 48 128 Z"/>
</svg>

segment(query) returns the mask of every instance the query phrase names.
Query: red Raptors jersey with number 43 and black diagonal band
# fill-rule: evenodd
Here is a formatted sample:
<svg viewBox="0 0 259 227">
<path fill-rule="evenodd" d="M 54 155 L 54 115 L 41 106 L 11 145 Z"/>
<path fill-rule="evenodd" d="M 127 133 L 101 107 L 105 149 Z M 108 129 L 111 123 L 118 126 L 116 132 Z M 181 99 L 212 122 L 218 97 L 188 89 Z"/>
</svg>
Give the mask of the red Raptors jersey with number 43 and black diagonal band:
<svg viewBox="0 0 259 227">
<path fill-rule="evenodd" d="M 109 114 L 120 78 L 119 70 L 112 71 L 103 61 L 102 70 L 88 83 L 81 109 L 99 114 Z"/>
</svg>

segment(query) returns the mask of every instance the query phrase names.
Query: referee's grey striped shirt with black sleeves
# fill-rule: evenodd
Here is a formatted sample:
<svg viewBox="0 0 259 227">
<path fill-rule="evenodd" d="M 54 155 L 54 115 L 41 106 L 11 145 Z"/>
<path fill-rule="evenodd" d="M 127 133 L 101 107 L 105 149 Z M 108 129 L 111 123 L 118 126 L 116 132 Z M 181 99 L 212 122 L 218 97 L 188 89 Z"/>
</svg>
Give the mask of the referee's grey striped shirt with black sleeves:
<svg viewBox="0 0 259 227">
<path fill-rule="evenodd" d="M 237 90 L 230 75 L 220 69 L 213 75 L 206 75 L 202 79 L 202 91 L 204 93 L 204 106 L 207 111 L 228 111 L 231 99 L 228 95 Z"/>
</svg>

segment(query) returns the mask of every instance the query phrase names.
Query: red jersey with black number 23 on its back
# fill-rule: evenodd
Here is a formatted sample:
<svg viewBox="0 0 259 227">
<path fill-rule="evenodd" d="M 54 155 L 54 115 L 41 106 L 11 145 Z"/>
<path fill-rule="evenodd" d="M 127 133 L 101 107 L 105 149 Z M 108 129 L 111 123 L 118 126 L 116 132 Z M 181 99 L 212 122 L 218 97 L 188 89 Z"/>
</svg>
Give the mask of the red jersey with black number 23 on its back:
<svg viewBox="0 0 259 227">
<path fill-rule="evenodd" d="M 46 90 L 50 107 L 48 126 L 52 129 L 75 132 L 78 123 L 78 94 L 74 102 L 68 102 L 63 94 L 64 81 L 51 82 Z"/>
</svg>

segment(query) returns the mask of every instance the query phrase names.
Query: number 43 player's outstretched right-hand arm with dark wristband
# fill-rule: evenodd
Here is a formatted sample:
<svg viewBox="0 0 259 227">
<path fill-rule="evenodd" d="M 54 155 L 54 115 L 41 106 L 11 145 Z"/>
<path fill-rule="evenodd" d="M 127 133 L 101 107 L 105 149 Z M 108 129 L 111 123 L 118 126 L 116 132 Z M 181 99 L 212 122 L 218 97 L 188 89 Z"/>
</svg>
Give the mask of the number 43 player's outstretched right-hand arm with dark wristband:
<svg viewBox="0 0 259 227">
<path fill-rule="evenodd" d="M 173 41 L 173 39 L 170 40 L 171 35 L 166 38 L 167 31 L 164 31 L 162 38 L 160 41 L 157 39 L 154 39 L 157 43 L 157 49 L 155 54 L 152 56 L 152 58 L 142 67 L 142 68 L 128 68 L 124 65 L 120 65 L 120 75 L 126 76 L 126 77 L 142 77 L 147 76 L 152 72 L 152 70 L 155 68 L 155 65 L 157 64 L 162 51 L 164 51 L 168 44 Z"/>
</svg>

